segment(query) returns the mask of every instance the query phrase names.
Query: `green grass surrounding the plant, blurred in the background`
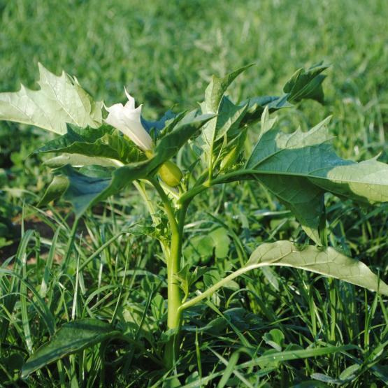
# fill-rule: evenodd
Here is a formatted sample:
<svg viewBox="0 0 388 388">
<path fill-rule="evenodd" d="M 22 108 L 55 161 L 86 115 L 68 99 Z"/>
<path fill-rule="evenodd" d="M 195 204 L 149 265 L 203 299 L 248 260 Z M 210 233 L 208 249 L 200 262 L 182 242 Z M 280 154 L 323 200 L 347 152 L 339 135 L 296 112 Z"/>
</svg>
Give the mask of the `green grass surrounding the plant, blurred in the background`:
<svg viewBox="0 0 388 388">
<path fill-rule="evenodd" d="M 107 104 L 124 100 L 125 85 L 155 118 L 176 104 L 190 108 L 201 101 L 212 73 L 257 63 L 232 88 L 239 99 L 276 94 L 299 66 L 324 60 L 331 64 L 326 105 L 308 102 L 279 113 L 280 125 L 306 129 L 333 115 L 341 156 L 359 160 L 382 152 L 388 161 L 387 16 L 382 0 L 0 0 L 0 90 L 16 90 L 21 81 L 34 86 L 39 61 L 76 75 Z M 2 385 L 388 384 L 385 299 L 289 268 L 245 275 L 187 310 L 181 357 L 173 371 L 164 371 L 166 273 L 145 208 L 129 189 L 89 212 L 69 243 L 73 219 L 66 204 L 34 207 L 48 171 L 39 159 L 26 158 L 47 138 L 43 131 L 0 122 L 0 243 L 13 243 L 1 251 Z M 333 196 L 326 203 L 331 245 L 387 279 L 387 205 L 359 208 Z M 262 241 L 303 242 L 299 225 L 283 210 L 252 183 L 199 196 L 189 208 L 185 260 L 213 271 L 195 287 L 238 267 Z M 16 216 L 20 233 L 10 230 Z M 217 246 L 215 252 L 199 249 L 198 236 L 217 230 L 226 255 Z M 83 350 L 21 380 L 23 360 L 56 328 L 80 317 L 113 319 L 131 342 Z M 350 347 L 318 354 L 319 345 Z"/>
</svg>

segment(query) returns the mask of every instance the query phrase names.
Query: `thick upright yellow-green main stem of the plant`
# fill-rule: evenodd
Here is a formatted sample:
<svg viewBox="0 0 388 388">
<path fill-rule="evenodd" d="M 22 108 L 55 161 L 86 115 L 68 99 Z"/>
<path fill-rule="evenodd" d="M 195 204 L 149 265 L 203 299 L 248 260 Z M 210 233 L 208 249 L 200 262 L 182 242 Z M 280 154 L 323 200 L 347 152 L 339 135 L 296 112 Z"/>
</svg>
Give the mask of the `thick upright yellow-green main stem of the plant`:
<svg viewBox="0 0 388 388">
<path fill-rule="evenodd" d="M 167 368 L 171 368 L 175 359 L 178 356 L 179 350 L 179 330 L 181 324 L 181 312 L 180 306 L 182 305 L 182 296 L 177 279 L 178 272 L 180 271 L 180 254 L 182 250 L 182 231 L 183 223 L 185 220 L 185 207 L 180 209 L 180 222 L 178 224 L 175 218 L 175 212 L 171 206 L 171 201 L 166 196 L 166 193 L 159 185 L 156 179 L 151 180 L 152 185 L 159 193 L 161 201 L 164 204 L 164 210 L 168 218 L 168 223 L 171 228 L 171 245 L 170 253 L 167 259 L 167 329 L 174 331 L 171 339 L 166 343 L 164 350 L 164 361 Z"/>
</svg>

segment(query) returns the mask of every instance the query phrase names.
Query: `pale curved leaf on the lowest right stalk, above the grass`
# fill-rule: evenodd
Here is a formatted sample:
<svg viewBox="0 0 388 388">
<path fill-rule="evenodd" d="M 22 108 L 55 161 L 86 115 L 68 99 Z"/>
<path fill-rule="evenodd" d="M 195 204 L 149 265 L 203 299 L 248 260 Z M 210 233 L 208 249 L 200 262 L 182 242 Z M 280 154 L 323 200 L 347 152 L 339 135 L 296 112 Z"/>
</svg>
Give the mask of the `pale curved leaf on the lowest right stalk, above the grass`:
<svg viewBox="0 0 388 388">
<path fill-rule="evenodd" d="M 332 247 L 322 249 L 309 245 L 299 249 L 289 241 L 264 243 L 252 252 L 245 268 L 250 266 L 288 266 L 320 273 L 388 295 L 382 282 L 364 263 L 341 254 Z"/>
</svg>

